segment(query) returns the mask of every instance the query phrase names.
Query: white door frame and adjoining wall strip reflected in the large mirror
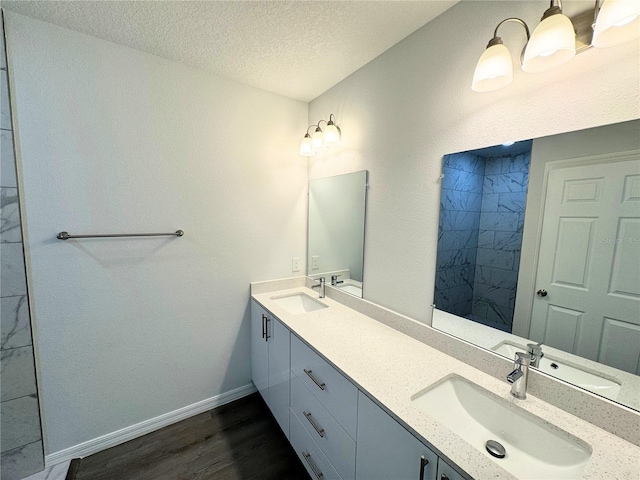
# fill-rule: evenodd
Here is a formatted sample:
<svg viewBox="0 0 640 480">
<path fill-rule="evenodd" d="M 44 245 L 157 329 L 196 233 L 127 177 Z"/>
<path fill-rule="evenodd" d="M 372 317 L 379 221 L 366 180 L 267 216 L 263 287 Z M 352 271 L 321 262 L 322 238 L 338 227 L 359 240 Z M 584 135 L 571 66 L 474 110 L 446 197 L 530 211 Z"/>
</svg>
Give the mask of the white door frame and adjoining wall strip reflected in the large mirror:
<svg viewBox="0 0 640 480">
<path fill-rule="evenodd" d="M 623 162 L 633 160 L 638 156 L 640 156 L 640 149 L 634 149 L 560 160 L 545 161 L 544 159 L 536 159 L 538 168 L 534 170 L 533 165 L 530 167 L 521 252 L 533 252 L 533 255 L 521 255 L 520 258 L 518 287 L 516 290 L 516 303 L 513 314 L 512 333 L 514 335 L 529 338 L 531 317 L 533 315 L 534 290 L 536 277 L 538 275 L 540 241 L 542 240 L 542 224 L 550 173 L 564 168 Z M 539 165 L 540 162 L 544 163 L 544 168 Z M 534 175 L 532 175 L 532 173 Z"/>
</svg>

